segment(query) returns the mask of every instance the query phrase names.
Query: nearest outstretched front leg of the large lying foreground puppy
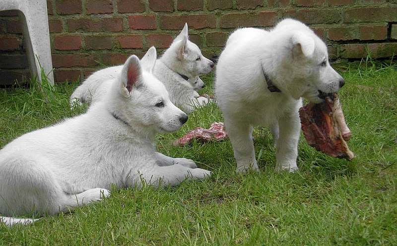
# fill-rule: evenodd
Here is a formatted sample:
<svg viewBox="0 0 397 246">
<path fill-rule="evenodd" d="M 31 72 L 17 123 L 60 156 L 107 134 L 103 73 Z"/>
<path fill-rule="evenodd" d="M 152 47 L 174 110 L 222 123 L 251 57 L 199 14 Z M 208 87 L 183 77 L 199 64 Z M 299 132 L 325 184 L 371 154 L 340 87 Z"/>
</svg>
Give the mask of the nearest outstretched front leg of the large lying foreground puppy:
<svg viewBox="0 0 397 246">
<path fill-rule="evenodd" d="M 211 176 L 208 170 L 197 168 L 194 163 L 178 164 L 172 166 L 155 167 L 142 172 L 141 177 L 148 184 L 175 186 L 184 180 L 199 180 Z M 134 184 L 134 182 L 131 182 Z"/>
</svg>

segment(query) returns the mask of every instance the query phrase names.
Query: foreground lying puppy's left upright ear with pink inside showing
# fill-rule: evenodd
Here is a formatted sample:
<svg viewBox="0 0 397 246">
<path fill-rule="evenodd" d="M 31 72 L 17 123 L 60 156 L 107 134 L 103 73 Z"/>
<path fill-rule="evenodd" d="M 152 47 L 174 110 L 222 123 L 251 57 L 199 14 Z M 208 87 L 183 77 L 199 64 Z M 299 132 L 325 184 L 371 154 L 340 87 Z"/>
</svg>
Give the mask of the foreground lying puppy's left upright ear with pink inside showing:
<svg viewBox="0 0 397 246">
<path fill-rule="evenodd" d="M 139 58 L 132 55 L 124 63 L 120 77 L 122 80 L 123 91 L 126 92 L 127 96 L 132 91 L 133 86 L 136 86 L 140 81 L 141 77 L 142 68 L 140 66 Z"/>
</svg>

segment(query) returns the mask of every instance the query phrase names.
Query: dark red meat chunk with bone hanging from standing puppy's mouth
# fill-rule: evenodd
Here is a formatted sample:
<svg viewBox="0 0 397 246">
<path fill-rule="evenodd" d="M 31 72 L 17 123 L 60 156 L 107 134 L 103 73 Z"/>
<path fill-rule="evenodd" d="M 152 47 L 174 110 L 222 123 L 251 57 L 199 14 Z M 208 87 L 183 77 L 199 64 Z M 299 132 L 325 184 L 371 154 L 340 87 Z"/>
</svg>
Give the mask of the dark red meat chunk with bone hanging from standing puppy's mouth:
<svg viewBox="0 0 397 246">
<path fill-rule="evenodd" d="M 350 129 L 345 123 L 336 93 L 326 97 L 323 103 L 309 103 L 300 108 L 299 117 L 310 146 L 332 157 L 354 158 L 346 143 L 351 136 Z"/>
</svg>

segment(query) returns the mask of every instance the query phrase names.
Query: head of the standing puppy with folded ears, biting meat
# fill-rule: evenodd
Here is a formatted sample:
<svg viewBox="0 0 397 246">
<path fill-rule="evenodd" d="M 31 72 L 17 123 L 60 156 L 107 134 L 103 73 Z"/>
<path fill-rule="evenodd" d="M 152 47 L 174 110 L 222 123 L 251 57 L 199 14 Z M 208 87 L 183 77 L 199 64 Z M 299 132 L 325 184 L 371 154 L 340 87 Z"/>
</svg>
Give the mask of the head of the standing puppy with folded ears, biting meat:
<svg viewBox="0 0 397 246">
<path fill-rule="evenodd" d="M 343 78 L 331 67 L 325 43 L 301 22 L 286 19 L 275 30 L 287 32 L 282 62 L 284 73 L 292 81 L 287 90 L 294 98 L 304 97 L 320 103 L 328 94 L 343 86 Z"/>
</svg>

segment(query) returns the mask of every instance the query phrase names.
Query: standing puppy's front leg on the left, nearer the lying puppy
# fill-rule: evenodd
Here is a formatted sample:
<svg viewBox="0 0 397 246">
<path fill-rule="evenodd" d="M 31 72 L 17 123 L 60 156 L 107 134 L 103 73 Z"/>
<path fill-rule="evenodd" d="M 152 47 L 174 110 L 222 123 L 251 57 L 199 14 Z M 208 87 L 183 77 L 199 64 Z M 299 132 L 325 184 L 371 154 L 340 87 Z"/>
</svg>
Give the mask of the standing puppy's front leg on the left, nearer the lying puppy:
<svg viewBox="0 0 397 246">
<path fill-rule="evenodd" d="M 248 123 L 237 123 L 225 118 L 225 127 L 237 162 L 236 172 L 246 172 L 250 168 L 258 170 L 252 139 L 252 126 Z"/>
</svg>

